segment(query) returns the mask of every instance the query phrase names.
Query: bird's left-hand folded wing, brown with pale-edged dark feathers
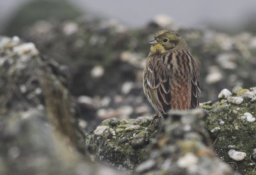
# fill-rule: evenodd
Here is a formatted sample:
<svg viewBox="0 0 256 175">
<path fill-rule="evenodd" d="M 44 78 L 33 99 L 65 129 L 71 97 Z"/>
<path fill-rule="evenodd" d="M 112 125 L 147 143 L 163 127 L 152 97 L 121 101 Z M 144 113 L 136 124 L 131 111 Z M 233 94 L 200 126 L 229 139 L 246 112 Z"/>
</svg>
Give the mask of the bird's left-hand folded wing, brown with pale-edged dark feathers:
<svg viewBox="0 0 256 175">
<path fill-rule="evenodd" d="M 166 113 L 171 109 L 170 77 L 164 67 L 161 57 L 148 61 L 146 78 L 152 102 L 160 112 Z"/>
</svg>

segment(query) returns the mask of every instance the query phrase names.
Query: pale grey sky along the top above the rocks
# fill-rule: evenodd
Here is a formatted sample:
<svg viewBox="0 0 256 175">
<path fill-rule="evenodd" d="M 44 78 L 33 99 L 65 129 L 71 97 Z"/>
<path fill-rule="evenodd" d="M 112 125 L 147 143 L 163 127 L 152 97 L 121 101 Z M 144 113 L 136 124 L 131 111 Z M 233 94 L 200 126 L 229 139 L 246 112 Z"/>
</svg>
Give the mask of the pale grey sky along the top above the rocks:
<svg viewBox="0 0 256 175">
<path fill-rule="evenodd" d="M 29 0 L 0 0 L 0 26 L 20 4 Z M 54 1 L 54 0 L 52 0 Z M 202 27 L 207 22 L 236 25 L 256 9 L 255 0 L 70 0 L 82 10 L 120 20 L 127 26 L 143 26 L 158 14 L 172 17 L 182 27 Z"/>
</svg>

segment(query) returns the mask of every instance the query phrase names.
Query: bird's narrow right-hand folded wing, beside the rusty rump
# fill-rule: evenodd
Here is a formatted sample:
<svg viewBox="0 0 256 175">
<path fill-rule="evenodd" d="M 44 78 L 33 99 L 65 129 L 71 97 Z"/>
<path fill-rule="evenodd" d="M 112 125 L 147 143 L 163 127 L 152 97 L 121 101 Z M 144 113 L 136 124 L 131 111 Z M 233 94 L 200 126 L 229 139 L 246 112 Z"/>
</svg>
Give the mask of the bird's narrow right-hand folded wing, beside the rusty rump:
<svg viewBox="0 0 256 175">
<path fill-rule="evenodd" d="M 191 54 L 189 53 L 191 56 Z M 199 107 L 199 95 L 201 93 L 200 84 L 198 81 L 199 70 L 195 59 L 191 56 L 191 64 L 193 66 L 191 77 L 191 109 Z"/>
</svg>

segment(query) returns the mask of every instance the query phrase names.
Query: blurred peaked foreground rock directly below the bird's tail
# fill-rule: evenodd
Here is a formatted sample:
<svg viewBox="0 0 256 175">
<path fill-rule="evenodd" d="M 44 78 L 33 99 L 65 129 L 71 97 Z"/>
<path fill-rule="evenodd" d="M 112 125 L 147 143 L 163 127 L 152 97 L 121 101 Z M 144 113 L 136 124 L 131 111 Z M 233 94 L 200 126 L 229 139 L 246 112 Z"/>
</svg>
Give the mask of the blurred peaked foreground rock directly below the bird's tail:
<svg viewBox="0 0 256 175">
<path fill-rule="evenodd" d="M 236 174 L 215 156 L 201 110 L 171 112 L 136 167 L 138 174 Z"/>
</svg>

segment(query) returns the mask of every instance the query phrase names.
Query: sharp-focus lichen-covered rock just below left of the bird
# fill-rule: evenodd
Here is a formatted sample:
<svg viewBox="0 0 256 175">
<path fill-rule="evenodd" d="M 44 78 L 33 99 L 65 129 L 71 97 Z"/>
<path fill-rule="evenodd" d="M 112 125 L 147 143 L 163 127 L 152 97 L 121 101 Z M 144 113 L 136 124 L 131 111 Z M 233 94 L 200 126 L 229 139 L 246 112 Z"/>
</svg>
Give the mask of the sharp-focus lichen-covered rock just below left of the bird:
<svg viewBox="0 0 256 175">
<path fill-rule="evenodd" d="M 158 124 L 150 125 L 152 118 L 102 121 L 86 136 L 86 148 L 96 162 L 108 162 L 118 169 L 132 172 L 145 155 L 150 139 L 156 137 Z M 99 128 L 105 132 L 99 132 Z M 100 131 L 101 131 L 100 130 Z"/>
</svg>

